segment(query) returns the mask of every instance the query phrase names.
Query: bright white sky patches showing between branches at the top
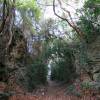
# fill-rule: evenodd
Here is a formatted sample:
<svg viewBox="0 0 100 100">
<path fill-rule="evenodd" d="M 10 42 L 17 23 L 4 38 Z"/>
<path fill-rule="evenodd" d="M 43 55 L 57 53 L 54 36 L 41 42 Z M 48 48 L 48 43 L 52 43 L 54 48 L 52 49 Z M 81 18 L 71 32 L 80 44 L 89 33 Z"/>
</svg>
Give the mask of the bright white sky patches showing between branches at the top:
<svg viewBox="0 0 100 100">
<path fill-rule="evenodd" d="M 84 2 L 85 0 L 68 0 L 67 2 L 63 3 L 63 7 L 66 8 L 68 11 L 70 11 L 73 17 L 75 14 L 75 9 L 81 8 L 84 5 Z M 66 5 L 66 3 L 68 5 Z M 59 7 L 56 7 L 56 9 L 58 10 Z M 44 19 L 48 19 L 48 18 L 53 18 L 53 19 L 56 18 L 56 16 L 53 13 L 52 6 L 47 6 L 45 9 Z"/>
</svg>

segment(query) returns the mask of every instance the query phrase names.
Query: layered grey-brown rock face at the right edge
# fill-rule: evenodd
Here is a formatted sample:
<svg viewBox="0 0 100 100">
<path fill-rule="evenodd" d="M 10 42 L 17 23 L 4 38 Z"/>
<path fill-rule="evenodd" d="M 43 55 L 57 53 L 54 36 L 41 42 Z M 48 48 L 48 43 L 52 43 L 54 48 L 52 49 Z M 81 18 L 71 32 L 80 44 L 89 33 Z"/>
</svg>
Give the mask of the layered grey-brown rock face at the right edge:
<svg viewBox="0 0 100 100">
<path fill-rule="evenodd" d="M 89 66 L 92 69 L 95 80 L 100 79 L 100 36 L 88 46 Z"/>
</svg>

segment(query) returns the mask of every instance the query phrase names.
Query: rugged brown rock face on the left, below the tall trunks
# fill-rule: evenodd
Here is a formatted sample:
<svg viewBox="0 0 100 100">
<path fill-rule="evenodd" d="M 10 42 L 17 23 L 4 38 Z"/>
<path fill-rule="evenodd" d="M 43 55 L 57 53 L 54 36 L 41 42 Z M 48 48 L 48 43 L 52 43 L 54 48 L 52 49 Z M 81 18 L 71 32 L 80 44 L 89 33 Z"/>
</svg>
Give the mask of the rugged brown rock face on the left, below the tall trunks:
<svg viewBox="0 0 100 100">
<path fill-rule="evenodd" d="M 15 83 L 21 84 L 20 80 L 25 79 L 27 43 L 19 28 L 15 28 L 8 51 L 4 52 L 3 44 L 6 45 L 6 43 L 0 42 L 0 82 L 7 84 L 5 90 L 10 91 L 13 90 L 13 86 L 15 87 Z"/>
</svg>

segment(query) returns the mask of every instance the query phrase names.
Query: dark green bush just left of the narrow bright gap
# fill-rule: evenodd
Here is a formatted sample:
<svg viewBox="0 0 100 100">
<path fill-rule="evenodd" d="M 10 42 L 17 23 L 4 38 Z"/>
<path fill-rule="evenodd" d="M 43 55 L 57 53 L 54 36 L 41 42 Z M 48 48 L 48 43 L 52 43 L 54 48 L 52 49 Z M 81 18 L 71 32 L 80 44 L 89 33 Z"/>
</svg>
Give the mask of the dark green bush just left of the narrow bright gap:
<svg viewBox="0 0 100 100">
<path fill-rule="evenodd" d="M 42 61 L 34 61 L 27 67 L 28 88 L 33 90 L 40 84 L 45 84 L 47 79 L 47 66 Z"/>
</svg>

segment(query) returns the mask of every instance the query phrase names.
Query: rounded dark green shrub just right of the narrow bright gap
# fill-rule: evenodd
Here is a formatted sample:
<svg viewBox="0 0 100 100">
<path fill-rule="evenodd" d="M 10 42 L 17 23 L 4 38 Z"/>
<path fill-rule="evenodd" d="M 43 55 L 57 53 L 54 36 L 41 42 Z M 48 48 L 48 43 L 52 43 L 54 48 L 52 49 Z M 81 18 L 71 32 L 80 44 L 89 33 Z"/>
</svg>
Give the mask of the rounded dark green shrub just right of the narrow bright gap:
<svg viewBox="0 0 100 100">
<path fill-rule="evenodd" d="M 71 59 L 60 59 L 51 65 L 51 79 L 68 82 L 76 76 L 74 64 Z"/>
</svg>

